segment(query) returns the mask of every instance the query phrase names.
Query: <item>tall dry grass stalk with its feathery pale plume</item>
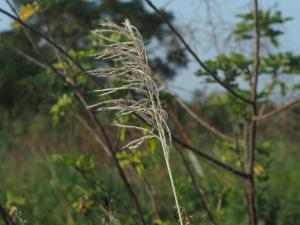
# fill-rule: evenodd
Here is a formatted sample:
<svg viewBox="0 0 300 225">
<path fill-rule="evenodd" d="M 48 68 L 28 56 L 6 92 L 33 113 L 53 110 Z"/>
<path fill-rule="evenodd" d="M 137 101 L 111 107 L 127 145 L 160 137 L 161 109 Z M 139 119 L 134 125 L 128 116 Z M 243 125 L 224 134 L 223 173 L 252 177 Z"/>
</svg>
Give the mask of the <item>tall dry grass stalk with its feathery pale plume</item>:
<svg viewBox="0 0 300 225">
<path fill-rule="evenodd" d="M 103 21 L 101 29 L 95 30 L 93 33 L 105 43 L 103 50 L 96 58 L 109 61 L 111 66 L 90 71 L 90 74 L 117 81 L 120 85 L 97 90 L 100 96 L 109 95 L 111 98 L 91 105 L 90 108 L 97 111 L 116 110 L 121 116 L 135 114 L 150 125 L 150 128 L 144 128 L 127 124 L 115 124 L 122 128 L 142 131 L 142 137 L 130 141 L 124 146 L 129 149 L 137 149 L 151 138 L 159 140 L 171 182 L 179 222 L 180 225 L 183 225 L 170 166 L 171 133 L 167 125 L 167 113 L 162 107 L 157 85 L 151 76 L 142 36 L 129 20 L 125 20 L 122 26 L 111 21 Z M 134 91 L 135 96 L 130 95 L 130 98 L 113 98 L 113 94 L 120 91 Z"/>
</svg>

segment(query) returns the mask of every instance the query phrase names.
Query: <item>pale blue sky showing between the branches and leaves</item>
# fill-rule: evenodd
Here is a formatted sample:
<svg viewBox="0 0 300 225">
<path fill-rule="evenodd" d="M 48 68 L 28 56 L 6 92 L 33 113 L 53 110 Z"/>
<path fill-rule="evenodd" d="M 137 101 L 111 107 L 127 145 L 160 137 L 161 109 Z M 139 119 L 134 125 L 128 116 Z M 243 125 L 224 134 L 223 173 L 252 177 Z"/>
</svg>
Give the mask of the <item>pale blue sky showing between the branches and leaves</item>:
<svg viewBox="0 0 300 225">
<path fill-rule="evenodd" d="M 212 21 L 217 27 L 218 47 L 220 51 L 231 51 L 233 41 L 224 41 L 226 34 L 230 33 L 231 28 L 236 22 L 234 15 L 237 12 L 247 11 L 252 6 L 251 0 L 152 0 L 159 7 L 170 10 L 174 13 L 176 20 L 174 24 L 189 41 L 193 49 L 202 59 L 212 58 L 217 54 L 217 49 L 212 42 L 211 27 L 208 22 Z M 210 2 L 210 13 L 207 4 Z M 277 7 L 284 16 L 293 17 L 288 22 L 283 31 L 285 35 L 281 38 L 280 50 L 292 51 L 300 54 L 300 1 L 299 0 L 261 0 L 262 8 Z M 8 9 L 4 0 L 0 0 L 0 7 Z M 149 10 L 151 10 L 149 8 Z M 210 18 L 210 19 L 209 19 Z M 9 29 L 11 21 L 0 14 L 0 30 Z M 221 24 L 221 25 L 220 25 Z M 224 28 L 225 27 L 225 28 Z M 249 47 L 250 48 L 250 47 Z M 240 49 L 244 51 L 245 49 Z M 246 49 L 246 51 L 248 51 Z M 208 92 L 222 91 L 217 85 L 207 85 L 193 74 L 198 65 L 191 59 L 189 66 L 179 71 L 174 81 L 170 82 L 170 87 L 182 98 L 189 99 L 195 90 L 206 90 Z M 291 79 L 290 83 L 299 82 L 300 79 Z M 261 84 L 263 84 L 261 82 Z"/>
</svg>

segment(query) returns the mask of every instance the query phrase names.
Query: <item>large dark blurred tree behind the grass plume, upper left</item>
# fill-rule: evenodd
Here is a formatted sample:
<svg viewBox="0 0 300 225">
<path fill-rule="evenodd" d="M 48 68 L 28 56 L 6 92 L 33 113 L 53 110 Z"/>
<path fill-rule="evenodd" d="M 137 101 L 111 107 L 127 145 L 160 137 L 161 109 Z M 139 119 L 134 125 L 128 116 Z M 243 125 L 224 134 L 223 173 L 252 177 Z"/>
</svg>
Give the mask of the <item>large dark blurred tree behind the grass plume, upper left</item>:
<svg viewBox="0 0 300 225">
<path fill-rule="evenodd" d="M 15 1 L 15 5 L 21 8 L 21 13 L 23 12 L 24 15 L 32 14 L 26 18 L 30 26 L 45 33 L 69 52 L 91 48 L 91 41 L 88 37 L 101 17 L 111 17 L 116 22 L 129 18 L 140 29 L 146 43 L 151 45 L 154 40 L 163 43 L 159 49 L 156 47 L 157 44 L 154 44 L 155 52 L 150 50 L 151 65 L 155 68 L 155 72 L 170 78 L 175 75 L 178 67 L 186 65 L 184 51 L 179 47 L 176 39 L 163 26 L 159 18 L 145 9 L 141 1 Z M 173 18 L 170 13 L 165 13 L 165 15 L 169 19 Z M 25 41 L 26 35 L 21 26 L 16 22 L 13 26 L 15 29 L 1 33 L 2 42 L 18 47 L 28 54 L 35 54 L 30 43 Z M 32 39 L 35 43 L 39 43 L 37 48 L 40 51 L 40 57 L 49 63 L 55 62 L 55 52 L 51 51 L 47 43 L 36 35 Z M 1 48 L 1 52 L 5 52 L 1 54 L 1 105 L 14 107 L 16 102 L 19 103 L 18 105 L 22 103 L 26 105 L 27 101 L 27 105 L 38 107 L 42 104 L 40 101 L 46 97 L 44 96 L 45 87 L 43 87 L 43 80 L 46 78 L 39 76 L 39 73 L 43 71 L 40 71 L 36 65 L 28 63 L 22 56 L 16 55 L 5 45 L 1 45 Z M 159 54 L 157 49 L 160 51 Z M 8 66 L 14 62 L 19 63 L 13 68 Z M 85 62 L 86 68 L 89 68 L 89 62 L 87 60 Z M 56 82 L 52 84 L 57 85 Z M 58 93 L 59 90 L 53 92 Z"/>
</svg>

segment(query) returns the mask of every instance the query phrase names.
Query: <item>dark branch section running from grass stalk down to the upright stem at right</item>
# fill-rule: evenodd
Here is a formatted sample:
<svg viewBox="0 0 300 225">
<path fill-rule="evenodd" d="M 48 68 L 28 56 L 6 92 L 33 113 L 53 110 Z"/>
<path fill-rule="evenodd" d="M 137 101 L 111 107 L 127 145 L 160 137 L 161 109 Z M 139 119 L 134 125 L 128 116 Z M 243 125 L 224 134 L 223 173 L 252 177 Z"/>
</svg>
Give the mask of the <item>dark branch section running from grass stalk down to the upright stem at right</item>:
<svg viewBox="0 0 300 225">
<path fill-rule="evenodd" d="M 179 138 L 177 138 L 176 136 L 172 136 L 172 140 L 175 141 L 176 143 L 180 144 L 181 146 L 185 147 L 186 149 L 188 149 L 189 151 L 192 151 L 194 152 L 196 155 L 200 156 L 201 158 L 204 158 L 210 162 L 212 162 L 213 164 L 217 165 L 218 167 L 220 168 L 223 168 L 227 171 L 229 171 L 230 173 L 234 174 L 234 175 L 237 175 L 239 177 L 242 177 L 242 178 L 245 178 L 245 179 L 249 179 L 250 178 L 250 175 L 243 172 L 243 171 L 240 171 L 234 167 L 232 167 L 231 165 L 228 165 L 222 161 L 219 161 L 218 159 L 215 159 L 214 157 L 194 148 L 193 146 L 189 145 L 189 144 L 186 144 L 184 143 L 183 141 L 181 141 Z"/>
</svg>

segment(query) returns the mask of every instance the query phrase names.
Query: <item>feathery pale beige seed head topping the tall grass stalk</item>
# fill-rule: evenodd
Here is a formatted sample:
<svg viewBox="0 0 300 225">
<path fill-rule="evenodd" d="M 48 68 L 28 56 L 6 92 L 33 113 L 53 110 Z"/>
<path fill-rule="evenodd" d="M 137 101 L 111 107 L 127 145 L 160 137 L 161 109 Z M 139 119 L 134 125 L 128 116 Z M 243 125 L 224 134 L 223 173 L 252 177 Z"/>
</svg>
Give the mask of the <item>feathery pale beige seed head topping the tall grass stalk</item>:
<svg viewBox="0 0 300 225">
<path fill-rule="evenodd" d="M 138 101 L 108 100 L 94 104 L 91 108 L 97 111 L 117 110 L 122 115 L 137 114 L 147 123 L 154 126 L 155 131 L 158 134 L 161 133 L 161 137 L 155 137 L 160 137 L 159 140 L 162 142 L 168 140 L 168 143 L 165 143 L 165 145 L 169 146 L 171 143 L 170 132 L 166 123 L 167 113 L 161 106 L 158 88 L 151 76 L 141 34 L 136 27 L 131 25 L 129 20 L 125 20 L 123 26 L 119 26 L 111 21 L 105 21 L 101 26 L 102 29 L 96 30 L 93 33 L 100 38 L 104 38 L 108 44 L 96 56 L 96 59 L 111 60 L 115 66 L 93 70 L 90 71 L 90 74 L 118 81 L 121 83 L 121 86 L 96 90 L 96 92 L 99 92 L 100 96 L 104 96 L 119 91 L 133 90 L 140 95 Z M 109 36 L 113 33 L 121 35 L 125 41 L 116 42 Z M 153 134 L 150 136 L 152 137 Z M 165 140 L 161 140 L 162 137 L 166 137 L 164 138 Z M 135 142 L 132 141 L 132 143 Z M 168 151 L 168 149 L 166 150 Z"/>
</svg>

